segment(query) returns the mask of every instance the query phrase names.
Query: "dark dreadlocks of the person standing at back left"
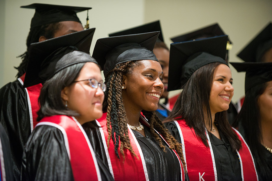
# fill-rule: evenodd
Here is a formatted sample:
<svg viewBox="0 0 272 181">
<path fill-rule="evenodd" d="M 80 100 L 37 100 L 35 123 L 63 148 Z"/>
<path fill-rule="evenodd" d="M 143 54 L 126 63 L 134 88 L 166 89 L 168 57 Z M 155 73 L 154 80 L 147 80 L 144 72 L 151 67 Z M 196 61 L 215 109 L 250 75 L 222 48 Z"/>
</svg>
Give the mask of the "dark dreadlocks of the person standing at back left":
<svg viewBox="0 0 272 181">
<path fill-rule="evenodd" d="M 24 52 L 22 55 L 17 56 L 17 58 L 21 57 L 22 62 L 18 67 L 14 67 L 18 70 L 18 73 L 16 75 L 17 78 L 21 77 L 26 72 L 26 68 L 29 61 L 28 49 L 30 44 L 39 42 L 39 38 L 41 36 L 44 36 L 46 39 L 53 38 L 56 31 L 60 29 L 60 26 L 61 26 L 60 22 L 57 22 L 57 23 L 51 23 L 47 25 L 41 25 L 38 27 L 33 27 L 30 29 L 28 33 L 27 42 L 26 42 L 27 51 Z"/>
</svg>

